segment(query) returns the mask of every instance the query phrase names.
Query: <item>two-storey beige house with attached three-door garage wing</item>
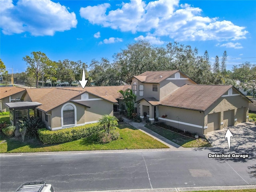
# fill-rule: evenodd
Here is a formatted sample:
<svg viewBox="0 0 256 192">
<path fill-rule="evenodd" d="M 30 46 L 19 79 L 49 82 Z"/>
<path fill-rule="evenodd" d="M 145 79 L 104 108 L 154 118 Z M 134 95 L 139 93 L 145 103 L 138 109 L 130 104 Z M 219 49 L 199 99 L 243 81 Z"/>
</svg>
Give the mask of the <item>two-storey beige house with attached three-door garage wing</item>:
<svg viewBox="0 0 256 192">
<path fill-rule="evenodd" d="M 248 121 L 251 102 L 231 85 L 200 85 L 178 70 L 147 71 L 128 81 L 137 95 L 137 114 L 204 136 Z M 167 118 L 162 118 L 166 114 Z"/>
</svg>

